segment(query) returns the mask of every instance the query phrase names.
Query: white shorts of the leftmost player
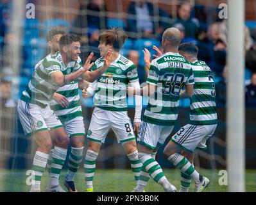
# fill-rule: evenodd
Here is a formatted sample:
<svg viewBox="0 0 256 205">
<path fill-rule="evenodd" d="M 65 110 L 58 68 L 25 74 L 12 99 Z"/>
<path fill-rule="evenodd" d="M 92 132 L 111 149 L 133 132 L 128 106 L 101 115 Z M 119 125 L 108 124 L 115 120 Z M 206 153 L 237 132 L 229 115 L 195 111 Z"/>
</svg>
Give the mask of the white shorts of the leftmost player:
<svg viewBox="0 0 256 205">
<path fill-rule="evenodd" d="M 36 104 L 19 100 L 17 110 L 26 136 L 38 131 L 62 127 L 62 122 L 49 106 L 41 108 Z"/>
</svg>

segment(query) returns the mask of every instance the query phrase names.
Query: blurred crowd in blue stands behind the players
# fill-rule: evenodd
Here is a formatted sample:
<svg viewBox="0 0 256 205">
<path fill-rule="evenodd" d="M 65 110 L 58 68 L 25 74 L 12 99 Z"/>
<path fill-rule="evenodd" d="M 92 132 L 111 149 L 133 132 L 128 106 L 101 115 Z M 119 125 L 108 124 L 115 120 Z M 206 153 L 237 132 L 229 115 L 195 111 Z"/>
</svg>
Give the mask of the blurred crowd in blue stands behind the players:
<svg viewBox="0 0 256 205">
<path fill-rule="evenodd" d="M 148 69 L 143 63 L 142 49 L 144 47 L 150 48 L 152 45 L 160 47 L 162 32 L 166 28 L 173 26 L 180 30 L 182 42 L 194 42 L 198 46 L 198 59 L 205 61 L 209 65 L 217 79 L 216 89 L 218 91 L 216 92 L 216 97 L 218 106 L 225 106 L 225 86 L 228 75 L 228 68 L 226 67 L 228 29 L 226 19 L 219 19 L 218 6 L 207 7 L 198 3 L 198 1 L 177 1 L 178 5 L 175 5 L 176 13 L 174 15 L 171 11 L 165 10 L 158 4 L 156 5 L 154 1 L 129 1 L 126 11 L 121 11 L 126 15 L 120 19 L 112 18 L 108 14 L 107 8 L 109 6 L 106 3 L 109 3 L 109 1 L 81 0 L 77 2 L 79 12 L 77 12 L 73 20 L 68 22 L 68 28 L 64 24 L 58 26 L 65 26 L 68 32 L 80 35 L 82 61 L 91 51 L 94 52 L 94 60 L 99 58 L 98 37 L 101 30 L 111 26 L 121 26 L 129 36 L 129 40 L 124 44 L 121 53 L 137 65 L 139 80 L 142 83 L 146 81 L 148 74 Z M 191 2 L 194 2 L 194 4 Z M 8 67 L 7 62 L 4 61 L 4 46 L 13 38 L 13 33 L 8 31 L 11 21 L 12 1 L 0 0 L 0 3 L 0 72 L 3 73 L 4 67 Z M 28 3 L 37 4 L 37 1 L 28 1 Z M 54 19 L 51 20 L 53 21 Z M 58 20 L 60 19 L 58 18 Z M 38 23 L 42 22 L 38 20 Z M 249 83 L 246 85 L 246 105 L 256 107 L 255 29 L 249 29 L 244 24 L 244 69 L 247 76 L 250 76 Z M 44 33 L 46 32 L 40 32 L 35 35 L 34 32 L 31 38 L 43 38 L 46 40 Z M 30 42 L 30 40 L 25 40 L 24 42 Z M 36 45 L 39 45 L 38 41 Z M 33 67 L 33 65 L 27 64 L 31 62 L 31 55 L 39 56 L 39 51 L 40 49 L 35 49 L 35 44 L 27 47 L 24 45 L 22 68 Z M 42 57 L 46 53 L 44 51 Z M 31 72 L 21 71 L 21 75 L 30 76 L 30 74 Z"/>
</svg>

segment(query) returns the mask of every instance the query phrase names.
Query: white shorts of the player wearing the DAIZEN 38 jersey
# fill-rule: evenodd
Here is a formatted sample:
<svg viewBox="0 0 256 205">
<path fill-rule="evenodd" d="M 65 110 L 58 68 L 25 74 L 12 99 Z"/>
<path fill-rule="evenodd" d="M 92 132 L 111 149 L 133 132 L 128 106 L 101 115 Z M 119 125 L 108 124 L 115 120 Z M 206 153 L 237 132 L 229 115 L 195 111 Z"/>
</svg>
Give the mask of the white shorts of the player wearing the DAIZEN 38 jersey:
<svg viewBox="0 0 256 205">
<path fill-rule="evenodd" d="M 174 126 L 159 126 L 148 122 L 142 122 L 137 143 L 155 149 L 157 145 L 163 145 L 166 138 L 171 135 Z"/>
</svg>

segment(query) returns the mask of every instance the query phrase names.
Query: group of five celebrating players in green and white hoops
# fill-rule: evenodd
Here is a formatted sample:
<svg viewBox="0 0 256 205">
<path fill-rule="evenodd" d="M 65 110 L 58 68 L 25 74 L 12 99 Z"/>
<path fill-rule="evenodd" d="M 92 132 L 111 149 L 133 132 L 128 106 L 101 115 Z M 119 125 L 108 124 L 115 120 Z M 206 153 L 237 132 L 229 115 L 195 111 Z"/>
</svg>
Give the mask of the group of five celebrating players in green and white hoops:
<svg viewBox="0 0 256 205">
<path fill-rule="evenodd" d="M 49 169 L 46 192 L 65 192 L 59 177 L 69 143 L 71 154 L 64 185 L 68 192 L 78 192 L 74 176 L 83 160 L 85 141 L 78 89 L 83 90 L 85 99 L 94 95 L 94 111 L 86 136 L 85 192 L 93 192 L 96 160 L 110 129 L 130 160 L 136 182 L 133 192 L 144 192 L 150 178 L 160 184 L 164 192 L 178 192 L 155 156 L 173 131 L 181 97 L 191 99 L 190 120 L 172 136 L 164 154 L 181 171 L 179 192 L 189 192 L 192 179 L 195 192 L 203 192 L 208 186 L 209 179 L 193 166 L 193 152 L 196 148 L 207 148 L 206 141 L 217 126 L 212 71 L 205 62 L 197 60 L 196 45 L 180 44 L 180 31 L 168 28 L 162 36 L 163 52 L 153 47 L 157 58 L 151 61 L 151 54 L 144 49 L 149 73 L 147 85 L 141 88 L 137 68 L 119 54 L 127 38 L 119 28 L 103 31 L 98 46 L 101 58 L 91 63 L 91 53 L 82 66 L 80 39 L 58 29 L 49 31 L 47 41 L 51 53 L 35 65 L 18 104 L 24 133 L 33 135 L 37 144 L 30 192 L 41 192 L 46 167 Z M 135 97 L 133 125 L 127 113 L 128 95 Z M 143 115 L 142 96 L 148 96 Z"/>
</svg>

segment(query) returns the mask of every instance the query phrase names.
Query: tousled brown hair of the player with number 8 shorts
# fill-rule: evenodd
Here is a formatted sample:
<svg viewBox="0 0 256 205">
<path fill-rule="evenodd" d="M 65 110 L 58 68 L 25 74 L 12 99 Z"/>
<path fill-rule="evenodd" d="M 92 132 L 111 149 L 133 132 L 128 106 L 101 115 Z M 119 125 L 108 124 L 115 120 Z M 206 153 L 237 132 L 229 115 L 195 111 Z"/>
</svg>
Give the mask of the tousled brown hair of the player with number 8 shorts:
<svg viewBox="0 0 256 205">
<path fill-rule="evenodd" d="M 114 50 L 117 52 L 124 45 L 127 38 L 128 35 L 121 28 L 108 29 L 99 35 L 99 41 L 105 42 L 106 45 L 113 45 Z"/>
</svg>

